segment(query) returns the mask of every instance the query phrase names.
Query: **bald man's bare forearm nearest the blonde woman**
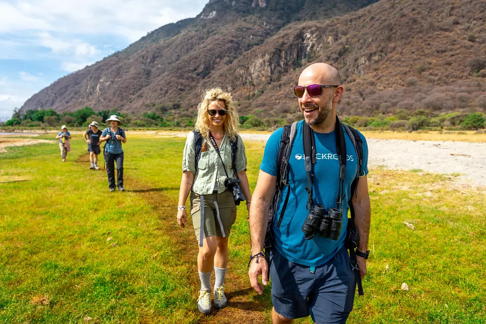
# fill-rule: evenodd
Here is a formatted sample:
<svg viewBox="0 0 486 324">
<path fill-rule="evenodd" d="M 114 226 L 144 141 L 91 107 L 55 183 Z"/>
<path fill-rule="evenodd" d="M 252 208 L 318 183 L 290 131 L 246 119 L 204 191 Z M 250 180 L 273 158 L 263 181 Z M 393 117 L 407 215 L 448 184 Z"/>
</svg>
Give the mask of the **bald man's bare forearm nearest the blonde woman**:
<svg viewBox="0 0 486 324">
<path fill-rule="evenodd" d="M 263 250 L 265 233 L 268 224 L 268 210 L 270 202 L 265 201 L 262 197 L 253 193 L 250 207 L 250 237 L 251 237 L 251 254 L 255 255 Z"/>
</svg>

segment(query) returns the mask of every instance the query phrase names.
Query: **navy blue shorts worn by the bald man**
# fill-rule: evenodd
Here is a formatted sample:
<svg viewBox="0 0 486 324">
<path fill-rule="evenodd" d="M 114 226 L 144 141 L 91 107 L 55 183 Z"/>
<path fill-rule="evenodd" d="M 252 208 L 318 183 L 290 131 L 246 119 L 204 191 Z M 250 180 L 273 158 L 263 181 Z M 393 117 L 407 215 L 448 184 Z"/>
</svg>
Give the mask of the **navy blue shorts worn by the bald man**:
<svg viewBox="0 0 486 324">
<path fill-rule="evenodd" d="M 311 268 L 287 260 L 276 249 L 270 254 L 272 303 L 288 319 L 311 315 L 316 324 L 346 323 L 353 309 L 356 280 L 343 247 L 328 262 Z"/>
</svg>

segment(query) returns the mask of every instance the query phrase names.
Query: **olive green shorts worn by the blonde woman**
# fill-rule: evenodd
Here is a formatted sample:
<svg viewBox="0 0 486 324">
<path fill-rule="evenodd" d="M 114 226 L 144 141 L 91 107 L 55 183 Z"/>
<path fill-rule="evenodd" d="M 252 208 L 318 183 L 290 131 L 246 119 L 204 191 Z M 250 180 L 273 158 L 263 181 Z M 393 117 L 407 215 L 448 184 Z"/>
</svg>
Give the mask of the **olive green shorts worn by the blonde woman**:
<svg viewBox="0 0 486 324">
<path fill-rule="evenodd" d="M 201 233 L 201 198 L 199 195 L 191 192 L 191 217 L 196 239 L 199 242 Z M 204 195 L 204 237 L 210 236 L 228 237 L 231 232 L 231 226 L 236 221 L 236 206 L 233 200 L 233 194 L 229 191 L 216 194 L 216 204 L 219 209 L 219 218 L 217 217 L 216 206 L 213 201 L 213 194 Z M 222 225 L 222 226 L 221 226 Z M 222 228 L 223 227 L 223 228 Z M 223 231 L 225 235 L 223 235 Z"/>
</svg>

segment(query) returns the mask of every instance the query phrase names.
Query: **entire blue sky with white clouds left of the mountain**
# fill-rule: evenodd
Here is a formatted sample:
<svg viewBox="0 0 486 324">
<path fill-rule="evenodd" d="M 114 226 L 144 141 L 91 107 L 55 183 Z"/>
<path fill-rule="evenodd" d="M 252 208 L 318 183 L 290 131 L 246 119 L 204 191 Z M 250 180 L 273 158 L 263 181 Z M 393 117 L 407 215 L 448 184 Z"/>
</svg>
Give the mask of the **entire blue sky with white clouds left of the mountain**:
<svg viewBox="0 0 486 324">
<path fill-rule="evenodd" d="M 55 80 L 208 0 L 0 0 L 0 120 Z"/>
</svg>

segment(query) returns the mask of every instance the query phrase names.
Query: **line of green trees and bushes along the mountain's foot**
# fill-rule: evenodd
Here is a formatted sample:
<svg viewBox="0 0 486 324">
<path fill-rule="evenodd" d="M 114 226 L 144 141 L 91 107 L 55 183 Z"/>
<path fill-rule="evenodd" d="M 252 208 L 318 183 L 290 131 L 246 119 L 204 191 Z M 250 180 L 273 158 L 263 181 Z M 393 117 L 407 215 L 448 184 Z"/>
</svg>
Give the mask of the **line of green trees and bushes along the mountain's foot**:
<svg viewBox="0 0 486 324">
<path fill-rule="evenodd" d="M 100 124 L 108 119 L 110 115 L 117 115 L 125 126 L 144 127 L 181 127 L 192 128 L 195 118 L 177 117 L 171 111 L 158 113 L 143 112 L 140 115 L 121 113 L 118 109 L 102 110 L 95 112 L 90 107 L 84 107 L 74 112 L 65 111 L 62 114 L 51 109 L 27 110 L 21 114 L 18 109 L 14 110 L 12 119 L 7 120 L 5 126 L 60 126 L 83 127 L 95 120 Z M 302 119 L 300 113 L 295 113 L 286 119 L 282 118 L 260 118 L 254 115 L 240 116 L 240 124 L 244 129 L 267 130 L 281 127 L 284 124 L 292 123 Z M 408 111 L 399 109 L 393 115 L 378 115 L 376 117 L 351 116 L 341 118 L 350 126 L 367 129 L 390 129 L 393 131 L 417 131 L 417 130 L 476 130 L 486 125 L 483 113 L 452 112 L 437 114 L 426 109 Z"/>
</svg>

